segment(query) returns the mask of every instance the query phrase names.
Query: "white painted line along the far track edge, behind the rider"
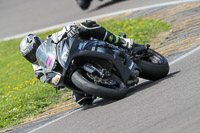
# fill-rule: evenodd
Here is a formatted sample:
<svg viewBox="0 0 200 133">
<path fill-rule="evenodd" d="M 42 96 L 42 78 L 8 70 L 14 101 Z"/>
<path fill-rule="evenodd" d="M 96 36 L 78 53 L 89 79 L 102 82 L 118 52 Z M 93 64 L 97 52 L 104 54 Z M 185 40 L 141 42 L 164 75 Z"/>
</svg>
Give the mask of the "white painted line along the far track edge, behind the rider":
<svg viewBox="0 0 200 133">
<path fill-rule="evenodd" d="M 173 2 L 165 2 L 165 3 L 160 3 L 160 4 L 148 5 L 148 6 L 138 7 L 138 8 L 131 8 L 131 9 L 122 10 L 122 11 L 113 12 L 113 13 L 107 13 L 107 14 L 103 14 L 103 15 L 98 15 L 98 16 L 89 17 L 89 18 L 85 18 L 85 19 L 79 19 L 79 20 L 76 20 L 76 21 L 66 22 L 66 23 L 55 25 L 55 26 L 46 27 L 46 28 L 43 28 L 43 29 L 39 29 L 39 30 L 30 31 L 30 32 L 27 32 L 27 33 L 22 33 L 22 34 L 19 34 L 19 35 L 7 37 L 7 38 L 4 38 L 4 39 L 1 39 L 0 42 L 10 40 L 10 39 L 16 39 L 16 38 L 24 37 L 24 36 L 26 36 L 30 33 L 37 34 L 37 33 L 47 31 L 47 30 L 51 30 L 51 29 L 61 28 L 61 27 L 64 27 L 68 24 L 80 23 L 80 22 L 83 22 L 85 20 L 96 20 L 96 19 L 100 19 L 100 18 L 104 18 L 104 17 L 108 17 L 108 16 L 122 14 L 122 13 L 125 13 L 125 12 L 131 12 L 131 11 L 133 12 L 133 11 L 138 11 L 138 10 L 144 10 L 144 9 L 149 9 L 149 8 L 167 6 L 167 5 L 175 5 L 175 4 L 180 4 L 180 3 L 184 3 L 184 2 L 192 2 L 192 1 L 200 1 L 200 0 L 178 0 L 178 1 L 173 1 Z"/>
</svg>

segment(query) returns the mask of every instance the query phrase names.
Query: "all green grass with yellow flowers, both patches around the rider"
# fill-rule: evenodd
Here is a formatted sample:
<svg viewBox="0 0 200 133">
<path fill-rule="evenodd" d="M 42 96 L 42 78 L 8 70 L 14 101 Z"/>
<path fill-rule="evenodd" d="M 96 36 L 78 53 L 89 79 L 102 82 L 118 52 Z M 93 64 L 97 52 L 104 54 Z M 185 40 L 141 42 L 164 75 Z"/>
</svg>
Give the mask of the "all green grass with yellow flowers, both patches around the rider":
<svg viewBox="0 0 200 133">
<path fill-rule="evenodd" d="M 150 19 L 125 19 L 100 22 L 107 30 L 118 35 L 126 33 L 136 43 L 145 44 L 162 31 L 169 30 L 165 22 Z M 58 29 L 59 30 L 59 29 Z M 41 38 L 58 30 L 38 34 Z M 22 38 L 0 42 L 0 129 L 19 124 L 23 119 L 43 112 L 59 102 L 65 93 L 34 77 L 31 64 L 19 52 Z"/>
</svg>

